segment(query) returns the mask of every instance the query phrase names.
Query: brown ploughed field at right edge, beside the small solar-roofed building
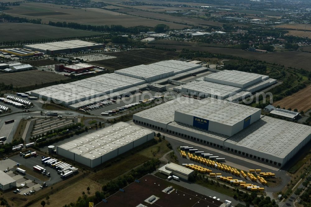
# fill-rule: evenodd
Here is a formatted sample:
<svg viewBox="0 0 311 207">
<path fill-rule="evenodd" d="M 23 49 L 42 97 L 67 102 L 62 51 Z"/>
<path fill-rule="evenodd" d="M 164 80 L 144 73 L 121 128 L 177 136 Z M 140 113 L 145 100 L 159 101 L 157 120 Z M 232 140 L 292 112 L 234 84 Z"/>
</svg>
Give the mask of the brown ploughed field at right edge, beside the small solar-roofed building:
<svg viewBox="0 0 311 207">
<path fill-rule="evenodd" d="M 281 108 L 285 107 L 295 109 L 298 111 L 308 111 L 311 108 L 311 85 L 298 91 L 297 93 L 290 95 L 282 100 L 273 103 L 274 106 L 279 105 Z"/>
</svg>

